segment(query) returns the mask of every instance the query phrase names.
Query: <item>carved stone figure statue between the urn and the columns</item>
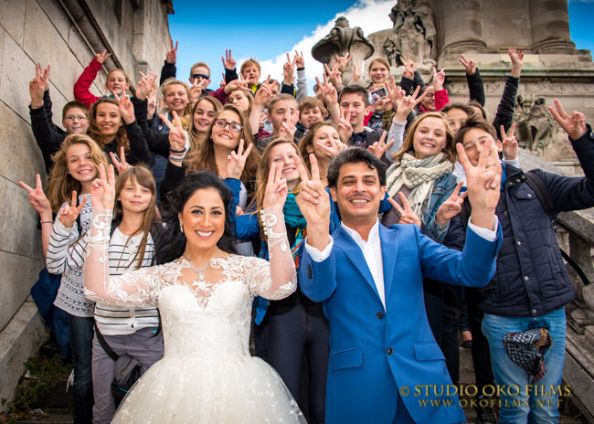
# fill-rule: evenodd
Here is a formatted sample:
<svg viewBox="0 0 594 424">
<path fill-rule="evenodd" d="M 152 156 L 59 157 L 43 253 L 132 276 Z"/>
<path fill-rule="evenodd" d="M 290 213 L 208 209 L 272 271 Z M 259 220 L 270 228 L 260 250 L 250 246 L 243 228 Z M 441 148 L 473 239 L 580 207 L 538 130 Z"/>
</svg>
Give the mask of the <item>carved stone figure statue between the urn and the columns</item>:
<svg viewBox="0 0 594 424">
<path fill-rule="evenodd" d="M 427 0 L 399 0 L 389 15 L 394 23 L 392 34 L 384 42 L 384 51 L 395 46 L 395 66 L 402 64 L 402 57 L 410 53 L 419 64 L 433 66 L 437 31 Z"/>
</svg>

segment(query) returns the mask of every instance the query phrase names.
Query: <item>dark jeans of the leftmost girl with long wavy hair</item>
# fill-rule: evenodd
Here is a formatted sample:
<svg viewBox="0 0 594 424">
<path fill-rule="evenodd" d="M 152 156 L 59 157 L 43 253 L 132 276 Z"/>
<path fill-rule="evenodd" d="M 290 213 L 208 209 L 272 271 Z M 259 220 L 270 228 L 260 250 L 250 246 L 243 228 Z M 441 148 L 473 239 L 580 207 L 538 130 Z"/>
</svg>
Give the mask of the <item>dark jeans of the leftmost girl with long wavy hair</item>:
<svg viewBox="0 0 594 424">
<path fill-rule="evenodd" d="M 90 424 L 93 420 L 93 381 L 90 364 L 94 319 L 69 314 L 68 321 L 72 343 L 72 366 L 74 366 L 74 387 L 72 387 L 74 423 Z"/>
</svg>

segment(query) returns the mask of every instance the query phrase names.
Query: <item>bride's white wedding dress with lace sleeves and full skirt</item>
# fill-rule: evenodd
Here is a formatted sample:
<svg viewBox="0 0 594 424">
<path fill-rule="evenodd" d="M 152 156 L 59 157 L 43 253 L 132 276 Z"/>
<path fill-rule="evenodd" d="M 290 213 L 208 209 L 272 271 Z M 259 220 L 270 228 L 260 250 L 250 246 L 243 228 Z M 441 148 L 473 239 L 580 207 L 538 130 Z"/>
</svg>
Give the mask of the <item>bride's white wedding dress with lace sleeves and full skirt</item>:
<svg viewBox="0 0 594 424">
<path fill-rule="evenodd" d="M 294 267 L 288 272 L 286 236 L 276 232 L 284 221 L 278 211 L 267 217 L 269 235 L 277 237 L 272 240 L 275 253 L 285 258 L 277 261 L 282 265 L 278 270 L 265 260 L 224 254 L 210 261 L 205 278 L 181 258 L 111 279 L 103 259 L 111 214 L 93 217 L 85 279 L 101 279 L 104 290 L 88 289 L 87 296 L 118 304 L 156 304 L 164 332 L 163 359 L 133 386 L 112 422 L 306 422 L 281 377 L 249 355 L 253 297 L 281 299 L 296 287 Z M 91 260 L 93 255 L 99 260 Z M 220 278 L 208 279 L 208 271 Z"/>
</svg>

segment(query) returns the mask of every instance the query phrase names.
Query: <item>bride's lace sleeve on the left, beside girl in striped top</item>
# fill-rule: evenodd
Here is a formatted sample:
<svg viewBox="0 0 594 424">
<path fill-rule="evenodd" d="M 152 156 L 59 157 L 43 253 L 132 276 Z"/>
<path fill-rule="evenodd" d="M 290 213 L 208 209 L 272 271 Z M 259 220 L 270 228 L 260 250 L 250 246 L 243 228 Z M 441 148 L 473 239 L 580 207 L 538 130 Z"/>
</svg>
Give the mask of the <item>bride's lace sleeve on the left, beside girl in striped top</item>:
<svg viewBox="0 0 594 424">
<path fill-rule="evenodd" d="M 93 209 L 84 267 L 85 296 L 93 302 L 117 305 L 155 304 L 158 267 L 143 268 L 110 278 L 111 210 Z"/>
</svg>

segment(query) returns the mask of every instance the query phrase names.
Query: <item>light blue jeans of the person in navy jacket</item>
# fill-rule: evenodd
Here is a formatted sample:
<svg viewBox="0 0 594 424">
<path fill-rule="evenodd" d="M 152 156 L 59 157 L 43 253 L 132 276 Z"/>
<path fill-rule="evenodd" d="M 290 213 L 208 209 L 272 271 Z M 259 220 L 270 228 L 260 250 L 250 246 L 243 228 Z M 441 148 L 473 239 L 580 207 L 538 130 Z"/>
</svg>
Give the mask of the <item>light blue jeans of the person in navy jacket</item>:
<svg viewBox="0 0 594 424">
<path fill-rule="evenodd" d="M 495 384 L 500 389 L 499 423 L 557 423 L 558 395 L 565 358 L 565 308 L 538 317 L 506 318 L 484 314 L 483 334 L 489 340 Z M 536 384 L 504 349 L 504 335 L 546 328 L 553 345 L 545 354 L 546 374 Z"/>
</svg>

